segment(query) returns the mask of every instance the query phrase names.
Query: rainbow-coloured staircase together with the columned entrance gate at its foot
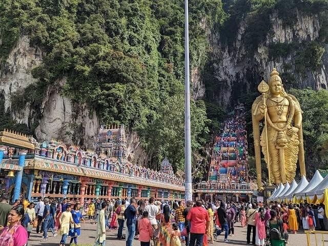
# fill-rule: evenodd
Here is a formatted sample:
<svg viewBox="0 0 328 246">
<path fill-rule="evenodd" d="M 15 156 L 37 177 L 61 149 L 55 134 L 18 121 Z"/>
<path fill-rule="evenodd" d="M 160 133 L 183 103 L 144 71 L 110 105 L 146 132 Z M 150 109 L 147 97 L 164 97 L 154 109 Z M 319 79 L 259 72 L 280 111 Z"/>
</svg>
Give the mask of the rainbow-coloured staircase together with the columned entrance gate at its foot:
<svg viewBox="0 0 328 246">
<path fill-rule="evenodd" d="M 207 181 L 194 187 L 199 199 L 251 200 L 245 125 L 244 106 L 238 105 L 214 140 Z"/>
</svg>

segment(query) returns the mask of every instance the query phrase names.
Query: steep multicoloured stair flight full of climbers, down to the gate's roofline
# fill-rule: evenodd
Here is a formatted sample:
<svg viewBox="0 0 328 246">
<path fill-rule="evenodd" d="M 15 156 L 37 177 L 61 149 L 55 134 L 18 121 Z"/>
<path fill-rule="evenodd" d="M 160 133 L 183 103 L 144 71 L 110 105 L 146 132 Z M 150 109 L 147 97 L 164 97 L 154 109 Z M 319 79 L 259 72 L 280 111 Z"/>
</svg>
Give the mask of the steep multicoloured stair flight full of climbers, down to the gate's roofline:
<svg viewBox="0 0 328 246">
<path fill-rule="evenodd" d="M 249 189 L 247 167 L 247 131 L 245 114 L 229 116 L 215 137 L 207 182 L 198 184 L 207 189 Z"/>
</svg>

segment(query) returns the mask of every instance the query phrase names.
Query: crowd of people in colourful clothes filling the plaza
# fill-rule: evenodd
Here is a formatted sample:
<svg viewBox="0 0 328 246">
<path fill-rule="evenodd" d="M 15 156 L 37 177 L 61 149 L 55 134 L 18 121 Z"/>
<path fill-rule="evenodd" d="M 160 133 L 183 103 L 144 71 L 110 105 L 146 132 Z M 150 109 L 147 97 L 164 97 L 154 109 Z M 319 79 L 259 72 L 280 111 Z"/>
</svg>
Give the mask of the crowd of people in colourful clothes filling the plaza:
<svg viewBox="0 0 328 246">
<path fill-rule="evenodd" d="M 35 206 L 34 206 L 35 205 Z M 285 204 L 278 202 L 224 202 L 210 200 L 162 202 L 131 199 L 97 199 L 90 203 L 88 210 L 80 210 L 79 202 L 70 204 L 67 199 L 42 198 L 29 202 L 23 198 L 16 204 L 9 204 L 8 195 L 0 200 L 0 245 L 25 246 L 30 233 L 42 233 L 43 241 L 48 231 L 53 236 L 61 235 L 59 245 L 77 245 L 84 216 L 97 224 L 94 245 L 106 244 L 106 231 L 114 230 L 118 240 L 125 240 L 127 246 L 138 239 L 141 246 L 207 246 L 214 243 L 220 234 L 224 242 L 234 237 L 235 222 L 247 228 L 245 241 L 263 246 L 283 246 L 288 243 L 289 234 L 303 230 L 326 229 L 327 219 L 323 204 L 315 206 L 306 202 Z M 123 229 L 125 228 L 125 235 Z M 83 229 L 82 229 L 83 230 Z"/>
</svg>

